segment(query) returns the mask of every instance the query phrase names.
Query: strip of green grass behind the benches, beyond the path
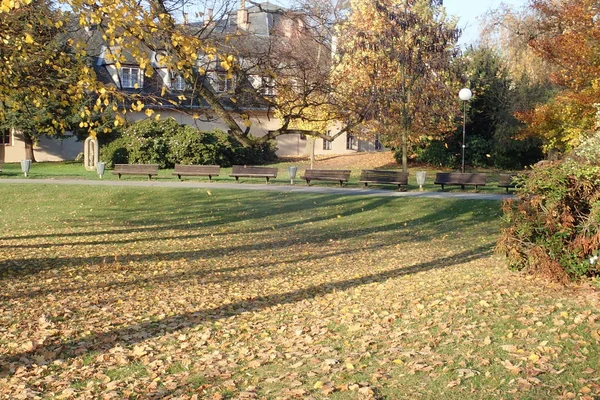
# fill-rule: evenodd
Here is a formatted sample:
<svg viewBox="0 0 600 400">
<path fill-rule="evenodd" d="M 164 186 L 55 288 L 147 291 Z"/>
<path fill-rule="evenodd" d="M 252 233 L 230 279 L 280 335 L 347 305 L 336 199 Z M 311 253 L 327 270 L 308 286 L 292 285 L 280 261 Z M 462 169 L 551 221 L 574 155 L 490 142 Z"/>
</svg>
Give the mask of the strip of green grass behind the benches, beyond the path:
<svg viewBox="0 0 600 400">
<path fill-rule="evenodd" d="M 290 179 L 288 176 L 288 167 L 291 165 L 295 165 L 298 167 L 298 172 L 295 179 L 296 185 L 306 185 L 306 182 L 302 181 L 300 177 L 303 175 L 303 171 L 307 168 L 310 168 L 310 162 L 306 160 L 300 161 L 279 161 L 276 163 L 272 163 L 269 166 L 275 167 L 279 169 L 278 177 L 275 179 L 271 179 L 270 182 L 274 185 L 289 185 Z M 318 165 L 315 168 L 320 168 Z M 352 172 L 350 174 L 350 181 L 345 184 L 346 187 L 357 188 L 363 187 L 363 184 L 359 182 L 360 172 L 362 168 L 358 166 L 348 166 L 344 167 L 350 169 Z M 388 167 L 385 167 L 388 168 Z M 400 169 L 399 166 L 390 166 L 392 169 Z M 389 169 L 388 168 L 388 169 Z M 341 168 L 340 168 L 341 169 Z M 409 168 L 409 185 L 404 189 L 408 191 L 418 191 L 419 187 L 415 180 L 415 172 L 417 171 L 427 171 L 427 179 L 423 189 L 426 191 L 439 191 L 440 186 L 434 185 L 435 173 L 442 171 L 443 169 L 435 169 L 431 167 L 411 167 Z M 177 181 L 177 177 L 172 175 L 172 169 L 159 170 L 158 176 L 152 178 L 153 180 L 159 182 L 167 182 Z M 479 191 L 482 193 L 504 193 L 504 188 L 498 188 L 498 171 L 494 170 L 478 170 L 478 172 L 485 172 L 488 174 L 488 182 L 486 186 L 482 186 L 479 188 Z M 221 168 L 221 173 L 217 177 L 213 177 L 213 181 L 216 183 L 233 183 L 235 182 L 235 178 L 230 177 L 231 168 Z M 43 163 L 34 163 L 29 172 L 30 179 L 60 179 L 60 178 L 68 178 L 68 179 L 91 179 L 91 180 L 99 180 L 100 178 L 96 174 L 95 171 L 86 171 L 81 162 L 43 162 Z M 0 173 L 0 179 L 10 179 L 10 178 L 23 178 L 24 175 L 21 172 L 21 166 L 19 163 L 6 163 L 3 165 L 2 173 Z M 103 178 L 104 180 L 117 180 L 117 177 L 112 174 L 112 170 L 107 169 Z M 134 180 L 141 181 L 147 180 L 147 177 L 144 176 L 123 176 L 123 180 Z M 186 181 L 192 182 L 207 182 L 208 178 L 206 177 L 185 177 Z M 241 178 L 243 183 L 264 183 L 264 179 L 255 179 L 255 178 Z M 313 186 L 330 186 L 335 187 L 337 184 L 335 182 L 326 182 L 326 181 L 313 181 L 311 182 Z M 380 189 L 388 189 L 395 190 L 397 187 L 395 185 L 371 185 L 371 187 L 380 188 Z M 447 186 L 446 190 L 448 191 L 461 191 L 459 186 Z M 474 188 L 467 187 L 467 191 L 474 191 Z"/>
</svg>

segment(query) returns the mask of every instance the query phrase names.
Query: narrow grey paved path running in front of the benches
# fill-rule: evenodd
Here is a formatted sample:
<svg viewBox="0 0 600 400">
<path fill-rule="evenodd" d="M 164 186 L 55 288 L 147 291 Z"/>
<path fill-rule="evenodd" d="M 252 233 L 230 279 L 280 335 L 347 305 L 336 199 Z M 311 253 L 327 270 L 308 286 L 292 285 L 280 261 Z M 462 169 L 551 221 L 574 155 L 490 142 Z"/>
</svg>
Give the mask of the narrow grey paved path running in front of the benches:
<svg viewBox="0 0 600 400">
<path fill-rule="evenodd" d="M 515 198 L 512 194 L 474 193 L 474 192 L 398 192 L 395 190 L 340 188 L 307 185 L 266 185 L 252 183 L 210 183 L 210 182 L 160 182 L 129 180 L 84 180 L 84 179 L 0 179 L 0 187 L 13 183 L 30 185 L 89 185 L 89 186 L 132 186 L 132 187 L 165 187 L 193 189 L 230 189 L 230 190 L 262 190 L 269 192 L 289 193 L 330 193 L 344 196 L 378 196 L 378 197 L 428 197 L 439 199 L 465 200 L 504 200 Z"/>
</svg>

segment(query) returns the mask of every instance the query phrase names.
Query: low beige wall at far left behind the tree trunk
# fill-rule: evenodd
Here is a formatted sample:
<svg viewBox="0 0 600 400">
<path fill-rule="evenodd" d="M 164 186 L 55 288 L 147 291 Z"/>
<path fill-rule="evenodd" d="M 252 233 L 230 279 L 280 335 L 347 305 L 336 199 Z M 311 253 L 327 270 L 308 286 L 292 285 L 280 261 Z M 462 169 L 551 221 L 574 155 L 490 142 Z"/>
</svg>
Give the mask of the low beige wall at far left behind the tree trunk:
<svg viewBox="0 0 600 400">
<path fill-rule="evenodd" d="M 62 140 L 42 136 L 35 145 L 34 156 L 37 161 L 74 160 L 83 152 L 83 142 L 69 136 Z M 25 159 L 25 142 L 19 132 L 12 132 L 11 143 L 0 145 L 0 162 L 19 162 Z"/>
</svg>

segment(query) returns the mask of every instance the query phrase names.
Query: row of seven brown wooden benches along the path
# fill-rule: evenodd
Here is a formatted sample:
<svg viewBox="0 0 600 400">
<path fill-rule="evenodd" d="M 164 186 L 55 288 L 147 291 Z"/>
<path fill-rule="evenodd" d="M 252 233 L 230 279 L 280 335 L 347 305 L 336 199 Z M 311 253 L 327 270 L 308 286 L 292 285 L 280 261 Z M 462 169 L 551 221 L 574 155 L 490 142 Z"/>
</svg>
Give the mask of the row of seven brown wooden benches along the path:
<svg viewBox="0 0 600 400">
<path fill-rule="evenodd" d="M 218 165 L 175 165 L 173 175 L 178 179 L 183 176 L 207 176 L 209 181 L 212 181 L 213 176 L 219 176 L 221 167 Z M 245 165 L 234 165 L 229 176 L 234 177 L 237 182 L 239 178 L 265 178 L 269 183 L 270 178 L 277 177 L 277 168 L 271 167 L 254 167 Z M 306 180 L 310 185 L 311 181 L 333 181 L 339 182 L 343 186 L 350 179 L 350 170 L 322 170 L 322 169 L 307 169 L 304 171 L 304 176 L 301 179 Z M 150 180 L 152 176 L 158 175 L 158 165 L 156 164 L 116 164 L 113 170 L 114 175 L 148 175 Z M 506 188 L 508 193 L 509 188 L 514 188 L 514 175 L 500 174 L 498 186 Z M 408 185 L 408 172 L 391 171 L 391 170 L 363 170 L 361 171 L 361 183 L 368 186 L 373 184 L 393 184 L 397 185 L 398 189 Z M 465 186 L 475 186 L 475 190 L 479 186 L 485 186 L 487 175 L 483 173 L 460 173 L 460 172 L 438 172 L 435 176 L 434 184 L 441 185 L 442 190 L 447 185 L 458 185 L 463 190 Z"/>
</svg>

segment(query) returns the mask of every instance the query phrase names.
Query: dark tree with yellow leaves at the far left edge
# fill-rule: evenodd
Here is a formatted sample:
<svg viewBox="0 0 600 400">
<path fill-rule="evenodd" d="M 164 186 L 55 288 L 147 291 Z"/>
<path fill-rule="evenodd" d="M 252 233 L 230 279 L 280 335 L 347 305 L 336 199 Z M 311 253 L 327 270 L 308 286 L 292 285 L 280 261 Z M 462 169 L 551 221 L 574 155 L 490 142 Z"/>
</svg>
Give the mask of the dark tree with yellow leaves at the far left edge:
<svg viewBox="0 0 600 400">
<path fill-rule="evenodd" d="M 0 18 L 0 126 L 22 133 L 25 157 L 33 160 L 40 135 L 60 136 L 70 128 L 93 75 L 72 51 L 68 14 L 47 0 L 17 5 Z"/>
</svg>

